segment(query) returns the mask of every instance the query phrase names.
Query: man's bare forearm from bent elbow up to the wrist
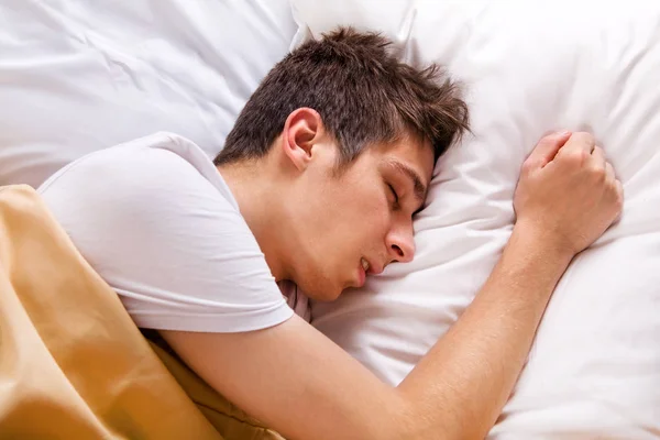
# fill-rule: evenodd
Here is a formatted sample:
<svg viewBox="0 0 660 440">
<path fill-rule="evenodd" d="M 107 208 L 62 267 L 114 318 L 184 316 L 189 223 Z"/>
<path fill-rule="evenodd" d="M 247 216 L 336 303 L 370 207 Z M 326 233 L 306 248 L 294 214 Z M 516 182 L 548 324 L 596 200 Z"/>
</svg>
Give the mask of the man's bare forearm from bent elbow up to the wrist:
<svg viewBox="0 0 660 440">
<path fill-rule="evenodd" d="M 399 385 L 417 438 L 484 438 L 572 255 L 516 228 L 472 305 Z"/>
</svg>

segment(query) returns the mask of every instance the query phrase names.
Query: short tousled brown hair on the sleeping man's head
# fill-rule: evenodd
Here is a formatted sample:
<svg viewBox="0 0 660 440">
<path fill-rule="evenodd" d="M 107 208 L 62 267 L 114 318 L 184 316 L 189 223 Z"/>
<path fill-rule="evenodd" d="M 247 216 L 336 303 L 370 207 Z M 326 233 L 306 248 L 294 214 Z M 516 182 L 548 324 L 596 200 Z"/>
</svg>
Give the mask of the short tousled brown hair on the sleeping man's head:
<svg viewBox="0 0 660 440">
<path fill-rule="evenodd" d="M 288 54 L 263 79 L 215 164 L 266 155 L 296 109 L 315 109 L 334 136 L 340 164 L 405 133 L 431 142 L 436 160 L 468 130 L 468 105 L 437 65 L 400 63 L 377 33 L 340 28 Z"/>
</svg>

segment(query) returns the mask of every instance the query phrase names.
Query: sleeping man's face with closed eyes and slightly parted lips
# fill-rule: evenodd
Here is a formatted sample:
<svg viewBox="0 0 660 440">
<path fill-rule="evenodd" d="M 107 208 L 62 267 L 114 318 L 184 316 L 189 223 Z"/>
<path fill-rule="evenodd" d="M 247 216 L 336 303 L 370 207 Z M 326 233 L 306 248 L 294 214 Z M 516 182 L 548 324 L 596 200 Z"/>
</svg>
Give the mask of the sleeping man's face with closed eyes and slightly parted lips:
<svg viewBox="0 0 660 440">
<path fill-rule="evenodd" d="M 333 173 L 334 145 L 315 154 L 290 205 L 299 248 L 290 250 L 292 278 L 311 298 L 333 300 L 387 264 L 413 260 L 413 215 L 426 197 L 433 151 L 405 138 L 366 148 L 341 174 Z"/>
</svg>

